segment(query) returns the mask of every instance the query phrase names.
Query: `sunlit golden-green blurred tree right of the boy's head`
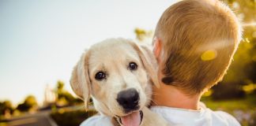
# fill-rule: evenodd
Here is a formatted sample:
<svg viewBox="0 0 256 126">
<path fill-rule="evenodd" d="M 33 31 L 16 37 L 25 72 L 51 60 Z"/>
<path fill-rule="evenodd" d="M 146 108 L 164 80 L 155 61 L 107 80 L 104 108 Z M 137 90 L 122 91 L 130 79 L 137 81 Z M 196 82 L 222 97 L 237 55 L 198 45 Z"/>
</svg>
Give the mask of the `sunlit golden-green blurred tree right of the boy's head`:
<svg viewBox="0 0 256 126">
<path fill-rule="evenodd" d="M 243 21 L 243 41 L 235 53 L 234 61 L 224 82 L 248 83 L 255 80 L 256 61 L 256 2 L 254 0 L 224 0 Z M 244 82 L 246 81 L 246 82 Z"/>
</svg>

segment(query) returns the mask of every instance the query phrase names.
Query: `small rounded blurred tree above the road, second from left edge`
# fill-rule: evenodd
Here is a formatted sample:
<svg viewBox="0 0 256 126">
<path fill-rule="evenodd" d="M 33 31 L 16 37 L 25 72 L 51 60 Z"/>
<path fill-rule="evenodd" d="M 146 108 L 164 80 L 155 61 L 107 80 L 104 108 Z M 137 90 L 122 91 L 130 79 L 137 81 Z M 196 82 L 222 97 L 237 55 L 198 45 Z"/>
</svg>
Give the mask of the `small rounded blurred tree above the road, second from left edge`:
<svg viewBox="0 0 256 126">
<path fill-rule="evenodd" d="M 38 104 L 36 102 L 36 98 L 33 95 L 28 95 L 27 98 L 24 99 L 24 102 L 17 106 L 17 109 L 21 112 L 28 111 L 36 111 Z"/>
</svg>

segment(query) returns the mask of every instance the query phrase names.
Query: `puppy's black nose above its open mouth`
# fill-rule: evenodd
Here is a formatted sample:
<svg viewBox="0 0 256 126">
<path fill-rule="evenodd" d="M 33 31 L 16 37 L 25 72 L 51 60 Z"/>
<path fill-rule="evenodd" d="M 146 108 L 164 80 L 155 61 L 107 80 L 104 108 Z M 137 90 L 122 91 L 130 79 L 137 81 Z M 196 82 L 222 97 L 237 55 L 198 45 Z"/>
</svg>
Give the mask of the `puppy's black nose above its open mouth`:
<svg viewBox="0 0 256 126">
<path fill-rule="evenodd" d="M 139 107 L 139 95 L 134 88 L 130 88 L 126 91 L 120 91 L 116 100 L 127 112 L 138 109 Z"/>
</svg>

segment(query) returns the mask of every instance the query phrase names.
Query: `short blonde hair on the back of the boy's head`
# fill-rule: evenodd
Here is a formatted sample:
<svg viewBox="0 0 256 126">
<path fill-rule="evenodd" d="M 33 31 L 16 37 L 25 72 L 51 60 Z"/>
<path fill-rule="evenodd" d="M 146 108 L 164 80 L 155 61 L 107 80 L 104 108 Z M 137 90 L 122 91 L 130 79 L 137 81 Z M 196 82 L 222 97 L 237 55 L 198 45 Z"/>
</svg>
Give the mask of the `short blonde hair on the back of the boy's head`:
<svg viewBox="0 0 256 126">
<path fill-rule="evenodd" d="M 170 6 L 156 26 L 162 42 L 163 83 L 189 95 L 222 80 L 241 39 L 241 27 L 217 0 L 184 0 Z"/>
</svg>

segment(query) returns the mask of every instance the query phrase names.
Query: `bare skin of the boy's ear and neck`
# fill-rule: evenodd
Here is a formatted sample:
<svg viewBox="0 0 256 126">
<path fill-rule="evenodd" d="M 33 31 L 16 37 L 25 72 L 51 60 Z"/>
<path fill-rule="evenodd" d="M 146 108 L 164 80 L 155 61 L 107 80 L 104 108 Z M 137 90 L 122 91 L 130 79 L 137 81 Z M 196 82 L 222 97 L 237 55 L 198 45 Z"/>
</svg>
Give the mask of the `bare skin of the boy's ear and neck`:
<svg viewBox="0 0 256 126">
<path fill-rule="evenodd" d="M 161 69 L 164 68 L 162 49 L 162 42 L 156 37 L 154 39 L 153 54 L 155 55 L 159 65 L 157 76 L 160 82 L 160 87 L 153 87 L 152 106 L 167 106 L 172 108 L 194 110 L 200 109 L 199 102 L 201 95 L 187 95 L 178 87 L 167 85 L 161 81 L 164 76 L 161 72 Z"/>
</svg>

